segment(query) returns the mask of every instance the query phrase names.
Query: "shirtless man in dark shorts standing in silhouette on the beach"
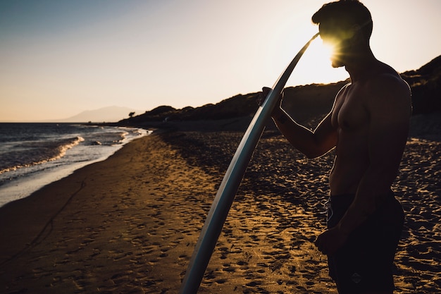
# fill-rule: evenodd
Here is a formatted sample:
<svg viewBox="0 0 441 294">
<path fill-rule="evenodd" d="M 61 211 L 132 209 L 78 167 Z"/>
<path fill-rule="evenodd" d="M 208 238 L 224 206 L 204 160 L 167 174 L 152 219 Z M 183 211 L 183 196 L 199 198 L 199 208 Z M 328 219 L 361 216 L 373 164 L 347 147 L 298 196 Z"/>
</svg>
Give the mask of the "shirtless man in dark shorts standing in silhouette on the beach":
<svg viewBox="0 0 441 294">
<path fill-rule="evenodd" d="M 334 46 L 332 66 L 344 66 L 351 82 L 313 132 L 280 107 L 272 118 L 306 157 L 336 148 L 328 230 L 315 245 L 328 255 L 339 293 L 393 293 L 392 265 L 404 214 L 390 188 L 409 131 L 409 85 L 373 56 L 371 13 L 359 1 L 325 4 L 312 20 L 323 42 Z"/>
</svg>

